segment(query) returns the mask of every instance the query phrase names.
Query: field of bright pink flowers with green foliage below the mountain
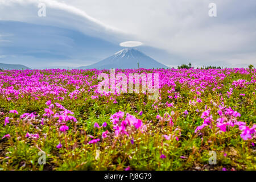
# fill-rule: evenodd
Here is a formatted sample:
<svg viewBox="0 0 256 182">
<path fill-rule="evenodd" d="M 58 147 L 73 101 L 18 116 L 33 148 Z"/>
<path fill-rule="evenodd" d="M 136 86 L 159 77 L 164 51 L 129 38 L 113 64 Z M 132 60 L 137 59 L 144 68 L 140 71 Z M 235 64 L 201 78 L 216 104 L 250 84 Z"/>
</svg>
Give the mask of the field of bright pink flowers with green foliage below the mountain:
<svg viewBox="0 0 256 182">
<path fill-rule="evenodd" d="M 256 170 L 256 69 L 115 70 L 158 73 L 156 100 L 103 72 L 0 71 L 0 169 Z"/>
</svg>

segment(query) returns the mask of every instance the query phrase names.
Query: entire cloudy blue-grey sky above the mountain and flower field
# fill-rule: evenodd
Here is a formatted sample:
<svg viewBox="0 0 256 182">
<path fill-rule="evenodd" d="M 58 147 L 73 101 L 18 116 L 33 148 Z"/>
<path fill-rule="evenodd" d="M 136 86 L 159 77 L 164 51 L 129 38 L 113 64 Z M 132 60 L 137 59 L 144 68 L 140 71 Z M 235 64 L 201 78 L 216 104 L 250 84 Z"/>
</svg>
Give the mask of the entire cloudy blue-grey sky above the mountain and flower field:
<svg viewBox="0 0 256 182">
<path fill-rule="evenodd" d="M 38 16 L 39 2 L 46 4 L 46 17 Z M 255 9 L 250 0 L 0 0 L 0 63 L 80 67 L 134 40 L 170 67 L 189 61 L 247 67 L 256 62 Z"/>
</svg>

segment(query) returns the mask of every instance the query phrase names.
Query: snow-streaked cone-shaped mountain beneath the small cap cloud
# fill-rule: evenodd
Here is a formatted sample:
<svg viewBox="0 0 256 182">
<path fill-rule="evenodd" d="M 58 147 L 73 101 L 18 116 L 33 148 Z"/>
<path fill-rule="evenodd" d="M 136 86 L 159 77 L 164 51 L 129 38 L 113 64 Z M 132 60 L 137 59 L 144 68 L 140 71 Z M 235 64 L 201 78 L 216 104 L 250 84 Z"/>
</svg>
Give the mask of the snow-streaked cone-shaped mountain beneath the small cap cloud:
<svg viewBox="0 0 256 182">
<path fill-rule="evenodd" d="M 138 63 L 139 68 L 168 68 L 166 65 L 159 63 L 137 49 L 125 48 L 98 63 L 85 67 L 79 67 L 79 69 L 137 69 Z"/>
</svg>

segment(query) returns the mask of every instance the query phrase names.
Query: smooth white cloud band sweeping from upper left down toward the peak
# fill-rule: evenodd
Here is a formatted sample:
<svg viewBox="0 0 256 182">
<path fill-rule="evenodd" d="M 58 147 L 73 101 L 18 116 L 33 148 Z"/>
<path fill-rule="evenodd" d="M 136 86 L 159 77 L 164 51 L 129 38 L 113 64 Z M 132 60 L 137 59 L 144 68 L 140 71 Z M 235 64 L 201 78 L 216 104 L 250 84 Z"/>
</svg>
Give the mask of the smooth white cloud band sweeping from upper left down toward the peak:
<svg viewBox="0 0 256 182">
<path fill-rule="evenodd" d="M 38 16 L 39 2 L 46 4 L 46 17 Z M 71 28 L 102 39 L 111 38 L 110 41 L 122 40 L 119 36 L 126 35 L 124 31 L 102 23 L 75 6 L 55 0 L 0 0 L 0 17 L 1 20 Z"/>
</svg>

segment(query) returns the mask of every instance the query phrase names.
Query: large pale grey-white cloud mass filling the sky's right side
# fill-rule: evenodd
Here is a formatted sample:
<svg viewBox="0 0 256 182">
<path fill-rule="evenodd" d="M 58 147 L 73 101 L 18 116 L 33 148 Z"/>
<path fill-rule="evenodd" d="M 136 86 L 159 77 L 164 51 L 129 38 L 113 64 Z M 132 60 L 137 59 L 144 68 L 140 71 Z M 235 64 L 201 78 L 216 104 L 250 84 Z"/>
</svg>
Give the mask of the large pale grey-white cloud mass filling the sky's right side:
<svg viewBox="0 0 256 182">
<path fill-rule="evenodd" d="M 187 60 L 204 60 L 207 63 L 226 61 L 226 57 L 234 53 L 253 56 L 249 49 L 256 46 L 256 2 L 252 0 L 65 2 L 129 32 L 145 45 L 165 49 Z M 208 5 L 212 2 L 217 5 L 216 18 L 208 15 Z M 244 61 L 247 61 L 246 57 Z"/>
</svg>

